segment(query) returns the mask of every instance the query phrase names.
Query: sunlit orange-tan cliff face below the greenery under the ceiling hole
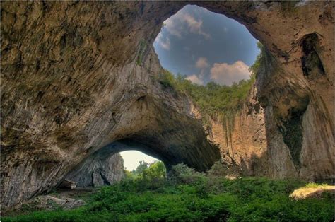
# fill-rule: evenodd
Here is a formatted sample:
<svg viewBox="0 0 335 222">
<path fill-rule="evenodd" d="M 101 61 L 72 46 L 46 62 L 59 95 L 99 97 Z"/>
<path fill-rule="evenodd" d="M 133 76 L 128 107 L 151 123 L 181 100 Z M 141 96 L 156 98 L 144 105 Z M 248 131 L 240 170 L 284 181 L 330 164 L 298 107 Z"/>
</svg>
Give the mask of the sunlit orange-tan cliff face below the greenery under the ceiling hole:
<svg viewBox="0 0 335 222">
<path fill-rule="evenodd" d="M 216 144 L 221 157 L 228 165 L 237 165 L 249 175 L 268 175 L 265 113 L 256 98 L 253 86 L 242 109 L 233 117 L 211 118 L 208 126 L 208 140 Z"/>
</svg>

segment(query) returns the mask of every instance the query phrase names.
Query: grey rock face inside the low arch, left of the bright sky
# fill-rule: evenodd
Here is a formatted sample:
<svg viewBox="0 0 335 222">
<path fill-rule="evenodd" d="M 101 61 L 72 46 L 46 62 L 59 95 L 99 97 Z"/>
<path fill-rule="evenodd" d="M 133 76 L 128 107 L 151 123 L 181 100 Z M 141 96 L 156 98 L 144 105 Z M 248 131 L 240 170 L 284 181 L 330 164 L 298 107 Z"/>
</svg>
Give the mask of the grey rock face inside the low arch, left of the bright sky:
<svg viewBox="0 0 335 222">
<path fill-rule="evenodd" d="M 124 177 L 124 165 L 119 153 L 111 155 L 110 146 L 101 148 L 83 160 L 66 178 L 77 183 L 77 187 L 100 187 L 112 185 Z"/>
</svg>

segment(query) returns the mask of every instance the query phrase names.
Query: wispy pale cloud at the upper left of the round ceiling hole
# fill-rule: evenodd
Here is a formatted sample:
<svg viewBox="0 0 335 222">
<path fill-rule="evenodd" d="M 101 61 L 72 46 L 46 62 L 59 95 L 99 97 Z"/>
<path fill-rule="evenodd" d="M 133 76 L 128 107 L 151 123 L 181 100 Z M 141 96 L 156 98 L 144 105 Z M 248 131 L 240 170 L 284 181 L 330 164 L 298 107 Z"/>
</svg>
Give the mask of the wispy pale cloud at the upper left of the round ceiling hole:
<svg viewBox="0 0 335 222">
<path fill-rule="evenodd" d="M 184 11 L 179 11 L 165 22 L 165 28 L 171 35 L 182 38 L 186 32 L 202 35 L 205 39 L 210 39 L 211 35 L 202 30 L 203 21 Z"/>
</svg>

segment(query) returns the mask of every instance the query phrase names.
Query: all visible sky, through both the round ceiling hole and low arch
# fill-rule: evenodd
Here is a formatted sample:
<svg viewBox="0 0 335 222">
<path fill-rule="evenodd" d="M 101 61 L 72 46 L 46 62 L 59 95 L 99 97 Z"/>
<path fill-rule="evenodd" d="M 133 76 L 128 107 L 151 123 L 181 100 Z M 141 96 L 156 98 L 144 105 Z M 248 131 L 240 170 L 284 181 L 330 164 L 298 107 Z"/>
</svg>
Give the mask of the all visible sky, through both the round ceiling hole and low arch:
<svg viewBox="0 0 335 222">
<path fill-rule="evenodd" d="M 184 6 L 164 24 L 153 46 L 165 69 L 200 85 L 214 81 L 229 86 L 249 78 L 259 49 L 244 25 L 198 6 Z M 136 169 L 141 160 L 156 160 L 139 151 L 121 155 L 127 170 Z"/>
</svg>

